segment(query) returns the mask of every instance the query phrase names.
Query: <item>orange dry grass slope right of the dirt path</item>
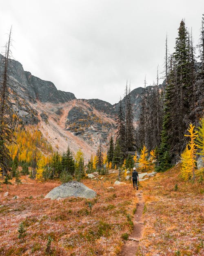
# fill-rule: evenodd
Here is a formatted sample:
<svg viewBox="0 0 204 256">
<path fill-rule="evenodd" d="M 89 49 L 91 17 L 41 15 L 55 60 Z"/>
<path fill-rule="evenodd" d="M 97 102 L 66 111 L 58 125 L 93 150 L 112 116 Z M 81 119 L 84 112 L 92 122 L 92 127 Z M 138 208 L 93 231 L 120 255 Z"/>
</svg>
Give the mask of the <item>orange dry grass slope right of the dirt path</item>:
<svg viewBox="0 0 204 256">
<path fill-rule="evenodd" d="M 204 255 L 204 187 L 184 182 L 179 170 L 178 165 L 142 183 L 145 226 L 137 256 Z"/>
</svg>

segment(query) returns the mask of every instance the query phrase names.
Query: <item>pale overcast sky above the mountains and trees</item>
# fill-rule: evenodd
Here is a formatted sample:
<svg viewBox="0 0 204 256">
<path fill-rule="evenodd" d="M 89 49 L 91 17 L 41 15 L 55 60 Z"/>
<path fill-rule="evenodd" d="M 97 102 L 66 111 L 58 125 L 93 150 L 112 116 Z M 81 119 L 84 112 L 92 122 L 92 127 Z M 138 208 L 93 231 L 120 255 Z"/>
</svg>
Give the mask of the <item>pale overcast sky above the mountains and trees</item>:
<svg viewBox="0 0 204 256">
<path fill-rule="evenodd" d="M 13 26 L 13 58 L 77 98 L 112 104 L 162 72 L 182 18 L 197 44 L 203 0 L 0 0 L 0 46 Z M 1 52 L 3 49 L 1 49 Z M 162 76 L 162 75 L 161 75 Z M 162 80 L 160 81 L 162 82 Z"/>
</svg>

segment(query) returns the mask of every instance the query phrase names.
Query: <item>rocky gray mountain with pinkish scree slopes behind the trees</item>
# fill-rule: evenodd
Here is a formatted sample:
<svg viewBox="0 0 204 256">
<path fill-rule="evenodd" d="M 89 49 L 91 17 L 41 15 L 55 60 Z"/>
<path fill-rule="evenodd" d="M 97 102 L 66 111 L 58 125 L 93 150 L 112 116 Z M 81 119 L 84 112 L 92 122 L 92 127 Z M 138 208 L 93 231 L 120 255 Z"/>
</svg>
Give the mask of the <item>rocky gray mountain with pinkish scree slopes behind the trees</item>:
<svg viewBox="0 0 204 256">
<path fill-rule="evenodd" d="M 0 76 L 3 72 L 0 54 Z M 135 88 L 130 93 L 134 121 L 140 114 L 142 96 L 150 87 Z M 24 71 L 22 64 L 9 61 L 9 91 L 13 111 L 27 125 L 38 128 L 60 152 L 67 145 L 76 152 L 81 148 L 87 158 L 95 153 L 99 143 L 104 146 L 115 133 L 115 118 L 119 103 L 111 105 L 99 99 L 76 99 L 73 93 L 58 90 L 52 82 L 44 81 Z M 122 104 L 125 103 L 125 97 Z"/>
</svg>

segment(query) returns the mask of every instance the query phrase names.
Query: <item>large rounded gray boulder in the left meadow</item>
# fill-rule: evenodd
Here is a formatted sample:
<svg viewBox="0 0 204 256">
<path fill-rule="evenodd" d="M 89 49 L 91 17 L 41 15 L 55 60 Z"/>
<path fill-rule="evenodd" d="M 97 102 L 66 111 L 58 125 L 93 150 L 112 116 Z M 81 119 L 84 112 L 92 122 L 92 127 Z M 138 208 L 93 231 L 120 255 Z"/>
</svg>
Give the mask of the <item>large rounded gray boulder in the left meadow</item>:
<svg viewBox="0 0 204 256">
<path fill-rule="evenodd" d="M 62 199 L 66 197 L 94 198 L 96 192 L 78 181 L 69 181 L 53 188 L 44 198 Z"/>
</svg>

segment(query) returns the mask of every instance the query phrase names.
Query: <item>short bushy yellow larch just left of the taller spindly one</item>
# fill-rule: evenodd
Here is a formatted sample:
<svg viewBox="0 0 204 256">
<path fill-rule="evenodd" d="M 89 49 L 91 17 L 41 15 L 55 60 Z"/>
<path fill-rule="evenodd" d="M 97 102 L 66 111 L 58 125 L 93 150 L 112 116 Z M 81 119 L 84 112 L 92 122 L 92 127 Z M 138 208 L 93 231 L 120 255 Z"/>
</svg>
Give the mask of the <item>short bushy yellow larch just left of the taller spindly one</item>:
<svg viewBox="0 0 204 256">
<path fill-rule="evenodd" d="M 191 179 L 193 170 L 193 163 L 191 157 L 191 150 L 188 149 L 188 145 L 184 152 L 181 154 L 181 176 L 184 180 Z"/>
</svg>

